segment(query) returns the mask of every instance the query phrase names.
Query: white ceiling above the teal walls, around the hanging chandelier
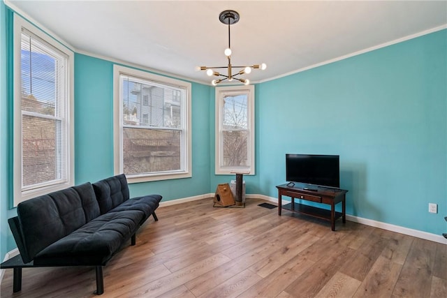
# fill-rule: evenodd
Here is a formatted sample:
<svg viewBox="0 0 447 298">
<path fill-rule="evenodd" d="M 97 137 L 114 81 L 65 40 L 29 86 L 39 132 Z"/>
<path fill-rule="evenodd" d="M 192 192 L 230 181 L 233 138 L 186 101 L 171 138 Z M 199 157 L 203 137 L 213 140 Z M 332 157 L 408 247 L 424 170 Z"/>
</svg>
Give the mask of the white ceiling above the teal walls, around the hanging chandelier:
<svg viewBox="0 0 447 298">
<path fill-rule="evenodd" d="M 270 80 L 425 31 L 446 28 L 447 1 L 10 1 L 81 53 L 210 83 L 195 66 L 265 62 Z"/>
</svg>

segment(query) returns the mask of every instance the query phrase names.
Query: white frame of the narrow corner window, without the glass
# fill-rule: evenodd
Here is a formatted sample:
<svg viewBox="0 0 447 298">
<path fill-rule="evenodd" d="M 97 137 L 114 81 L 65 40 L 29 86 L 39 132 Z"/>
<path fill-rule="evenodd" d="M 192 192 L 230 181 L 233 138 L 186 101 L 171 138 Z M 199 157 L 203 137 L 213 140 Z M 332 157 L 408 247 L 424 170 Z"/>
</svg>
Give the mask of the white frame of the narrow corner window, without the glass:
<svg viewBox="0 0 447 298">
<path fill-rule="evenodd" d="M 227 167 L 223 166 L 223 98 L 225 96 L 247 94 L 247 130 L 249 132 L 249 144 L 248 144 L 248 161 L 249 165 L 247 167 Z M 215 125 L 215 146 L 216 146 L 216 157 L 215 157 L 215 173 L 216 174 L 234 174 L 243 173 L 254 175 L 255 174 L 255 122 L 254 122 L 254 85 L 247 86 L 227 86 L 227 87 L 216 87 L 215 90 L 215 110 L 216 110 L 216 125 Z"/>
</svg>

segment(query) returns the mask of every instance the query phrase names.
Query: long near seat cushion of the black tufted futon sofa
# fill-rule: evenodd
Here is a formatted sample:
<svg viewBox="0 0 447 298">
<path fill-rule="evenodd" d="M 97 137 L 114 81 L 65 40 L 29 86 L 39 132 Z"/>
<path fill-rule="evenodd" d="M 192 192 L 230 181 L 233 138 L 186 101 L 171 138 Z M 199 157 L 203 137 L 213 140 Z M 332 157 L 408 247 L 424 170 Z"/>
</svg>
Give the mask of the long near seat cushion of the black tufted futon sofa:
<svg viewBox="0 0 447 298">
<path fill-rule="evenodd" d="M 135 234 L 143 216 L 137 210 L 103 214 L 43 249 L 34 258 L 34 265 L 105 265 Z"/>
</svg>

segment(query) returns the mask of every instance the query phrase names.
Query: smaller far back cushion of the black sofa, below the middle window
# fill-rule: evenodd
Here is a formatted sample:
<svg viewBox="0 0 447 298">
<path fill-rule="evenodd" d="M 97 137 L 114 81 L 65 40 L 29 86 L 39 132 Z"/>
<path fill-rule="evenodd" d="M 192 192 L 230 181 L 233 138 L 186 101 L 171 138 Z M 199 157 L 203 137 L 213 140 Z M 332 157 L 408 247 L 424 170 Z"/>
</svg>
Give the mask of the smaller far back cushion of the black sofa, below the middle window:
<svg viewBox="0 0 447 298">
<path fill-rule="evenodd" d="M 93 184 L 101 214 L 106 214 L 122 202 L 129 200 L 129 186 L 124 174 L 119 174 Z"/>
</svg>

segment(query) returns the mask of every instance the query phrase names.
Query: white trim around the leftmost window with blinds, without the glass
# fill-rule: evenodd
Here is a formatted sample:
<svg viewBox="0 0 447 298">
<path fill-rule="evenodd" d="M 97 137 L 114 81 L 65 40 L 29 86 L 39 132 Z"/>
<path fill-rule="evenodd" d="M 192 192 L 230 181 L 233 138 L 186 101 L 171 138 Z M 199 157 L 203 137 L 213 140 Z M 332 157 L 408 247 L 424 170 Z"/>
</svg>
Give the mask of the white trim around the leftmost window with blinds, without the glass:
<svg viewBox="0 0 447 298">
<path fill-rule="evenodd" d="M 65 182 L 59 184 L 42 184 L 41 187 L 22 191 L 22 77 L 21 77 L 21 42 L 22 42 L 22 28 L 27 29 L 34 35 L 38 36 L 45 42 L 59 51 L 64 52 L 68 56 L 68 104 L 66 105 L 66 125 L 67 125 L 67 179 Z M 13 104 L 13 189 L 14 189 L 14 207 L 20 202 L 35 198 L 38 195 L 45 195 L 53 191 L 60 191 L 64 188 L 73 186 L 75 184 L 75 149 L 74 149 L 74 54 L 67 47 L 58 43 L 54 38 L 47 36 L 40 29 L 33 24 L 22 19 L 22 17 L 14 14 L 14 50 L 13 50 L 13 88 L 14 88 L 14 104 Z"/>
</svg>

